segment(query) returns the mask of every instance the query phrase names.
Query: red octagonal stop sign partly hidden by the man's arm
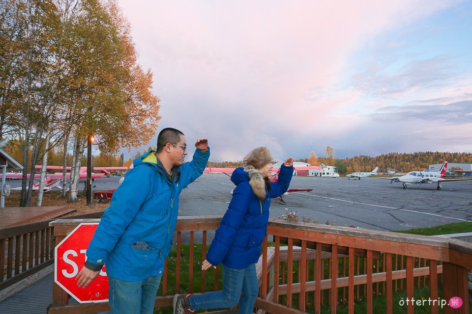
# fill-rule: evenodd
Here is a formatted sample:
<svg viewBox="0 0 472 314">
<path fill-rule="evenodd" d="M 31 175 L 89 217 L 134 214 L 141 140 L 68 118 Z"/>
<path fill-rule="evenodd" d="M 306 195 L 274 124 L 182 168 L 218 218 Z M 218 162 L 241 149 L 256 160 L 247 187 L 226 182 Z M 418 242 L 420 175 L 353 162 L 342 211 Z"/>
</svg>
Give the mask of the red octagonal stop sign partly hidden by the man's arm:
<svg viewBox="0 0 472 314">
<path fill-rule="evenodd" d="M 55 249 L 54 281 L 80 303 L 108 301 L 108 277 L 105 266 L 87 288 L 77 286 L 75 277 L 87 259 L 98 223 L 82 223 L 67 235 Z"/>
</svg>

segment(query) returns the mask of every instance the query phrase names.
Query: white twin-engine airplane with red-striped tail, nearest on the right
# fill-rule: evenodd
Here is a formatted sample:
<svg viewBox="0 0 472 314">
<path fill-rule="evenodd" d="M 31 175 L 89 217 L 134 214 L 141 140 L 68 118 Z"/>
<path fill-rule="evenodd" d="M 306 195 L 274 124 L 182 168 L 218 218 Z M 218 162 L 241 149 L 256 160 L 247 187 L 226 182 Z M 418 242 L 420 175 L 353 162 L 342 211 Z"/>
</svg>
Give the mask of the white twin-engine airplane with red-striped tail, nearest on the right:
<svg viewBox="0 0 472 314">
<path fill-rule="evenodd" d="M 472 179 L 444 179 L 446 175 L 447 161 L 444 161 L 439 172 L 430 172 L 430 171 L 411 171 L 401 177 L 392 177 L 392 178 L 381 178 L 390 180 L 390 184 L 393 182 L 403 183 L 403 189 L 407 188 L 407 184 L 423 184 L 423 183 L 437 183 L 436 187 L 438 190 L 441 190 L 441 184 L 449 181 L 466 181 Z"/>
</svg>

